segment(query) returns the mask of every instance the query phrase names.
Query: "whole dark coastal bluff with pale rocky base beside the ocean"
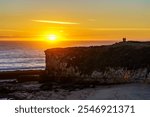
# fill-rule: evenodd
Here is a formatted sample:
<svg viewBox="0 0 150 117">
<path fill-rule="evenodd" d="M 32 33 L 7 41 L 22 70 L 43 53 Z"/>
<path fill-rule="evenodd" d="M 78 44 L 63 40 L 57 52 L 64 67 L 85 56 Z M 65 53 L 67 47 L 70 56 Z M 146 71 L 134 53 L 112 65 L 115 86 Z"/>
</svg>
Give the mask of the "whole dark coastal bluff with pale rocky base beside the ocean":
<svg viewBox="0 0 150 117">
<path fill-rule="evenodd" d="M 53 48 L 45 51 L 50 78 L 98 83 L 150 79 L 150 42 L 127 41 L 91 47 Z"/>
</svg>

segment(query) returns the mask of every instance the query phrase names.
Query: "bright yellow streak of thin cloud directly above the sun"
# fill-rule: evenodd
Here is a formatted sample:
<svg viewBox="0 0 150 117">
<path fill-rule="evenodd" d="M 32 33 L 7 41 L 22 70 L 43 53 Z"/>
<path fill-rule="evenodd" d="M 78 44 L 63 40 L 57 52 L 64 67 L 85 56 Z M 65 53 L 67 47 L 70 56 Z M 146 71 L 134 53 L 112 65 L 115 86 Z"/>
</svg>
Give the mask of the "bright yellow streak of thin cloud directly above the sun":
<svg viewBox="0 0 150 117">
<path fill-rule="evenodd" d="M 62 21 L 52 21 L 52 20 L 32 20 L 33 22 L 40 22 L 40 23 L 50 23 L 50 24 L 64 24 L 64 25 L 76 25 L 80 24 L 77 22 L 62 22 Z"/>
</svg>

